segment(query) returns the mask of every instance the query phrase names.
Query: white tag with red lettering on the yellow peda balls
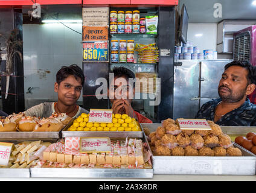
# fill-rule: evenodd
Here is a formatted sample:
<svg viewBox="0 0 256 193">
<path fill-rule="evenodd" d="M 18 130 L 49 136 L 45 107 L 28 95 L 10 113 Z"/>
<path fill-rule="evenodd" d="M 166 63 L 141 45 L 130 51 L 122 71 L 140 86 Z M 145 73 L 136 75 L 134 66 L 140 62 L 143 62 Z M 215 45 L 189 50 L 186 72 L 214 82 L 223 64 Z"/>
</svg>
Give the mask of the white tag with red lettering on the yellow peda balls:
<svg viewBox="0 0 256 193">
<path fill-rule="evenodd" d="M 88 122 L 112 122 L 112 109 L 90 109 Z"/>
</svg>

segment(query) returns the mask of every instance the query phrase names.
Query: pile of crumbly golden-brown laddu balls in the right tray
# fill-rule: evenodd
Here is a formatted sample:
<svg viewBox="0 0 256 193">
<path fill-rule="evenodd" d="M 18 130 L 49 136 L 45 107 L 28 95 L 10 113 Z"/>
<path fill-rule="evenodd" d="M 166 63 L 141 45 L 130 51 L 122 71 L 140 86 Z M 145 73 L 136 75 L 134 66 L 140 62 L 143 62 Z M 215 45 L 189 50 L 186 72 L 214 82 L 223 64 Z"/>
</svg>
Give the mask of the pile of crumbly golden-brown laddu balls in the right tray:
<svg viewBox="0 0 256 193">
<path fill-rule="evenodd" d="M 181 130 L 175 120 L 166 119 L 156 131 L 144 131 L 155 156 L 242 156 L 219 125 L 207 122 L 211 130 Z"/>
</svg>

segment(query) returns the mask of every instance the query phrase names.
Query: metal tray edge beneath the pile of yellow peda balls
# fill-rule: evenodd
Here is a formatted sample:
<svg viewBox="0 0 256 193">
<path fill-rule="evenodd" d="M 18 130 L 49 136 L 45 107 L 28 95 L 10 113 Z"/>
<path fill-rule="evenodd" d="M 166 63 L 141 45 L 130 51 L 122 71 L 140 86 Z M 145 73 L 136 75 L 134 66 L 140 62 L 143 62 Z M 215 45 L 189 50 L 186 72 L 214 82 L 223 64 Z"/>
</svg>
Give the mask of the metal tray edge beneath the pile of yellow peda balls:
<svg viewBox="0 0 256 193">
<path fill-rule="evenodd" d="M 68 131 L 68 128 L 73 124 L 69 122 L 62 130 L 62 138 L 69 137 L 109 137 L 109 138 L 142 138 L 142 131 Z M 141 125 L 140 125 L 141 126 Z M 141 126 L 142 129 L 142 126 Z"/>
</svg>

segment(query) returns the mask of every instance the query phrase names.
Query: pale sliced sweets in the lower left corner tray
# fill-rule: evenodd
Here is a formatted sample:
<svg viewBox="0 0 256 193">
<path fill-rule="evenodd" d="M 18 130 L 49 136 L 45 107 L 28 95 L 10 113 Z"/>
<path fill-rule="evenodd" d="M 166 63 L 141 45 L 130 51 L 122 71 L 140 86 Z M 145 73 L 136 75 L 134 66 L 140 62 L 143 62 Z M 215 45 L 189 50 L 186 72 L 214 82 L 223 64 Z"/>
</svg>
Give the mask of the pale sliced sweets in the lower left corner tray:
<svg viewBox="0 0 256 193">
<path fill-rule="evenodd" d="M 0 166 L 0 168 L 30 168 L 36 165 L 40 159 L 43 159 L 43 151 L 49 145 L 51 145 L 50 142 L 43 141 L 24 141 L 15 144 L 8 165 Z"/>
</svg>

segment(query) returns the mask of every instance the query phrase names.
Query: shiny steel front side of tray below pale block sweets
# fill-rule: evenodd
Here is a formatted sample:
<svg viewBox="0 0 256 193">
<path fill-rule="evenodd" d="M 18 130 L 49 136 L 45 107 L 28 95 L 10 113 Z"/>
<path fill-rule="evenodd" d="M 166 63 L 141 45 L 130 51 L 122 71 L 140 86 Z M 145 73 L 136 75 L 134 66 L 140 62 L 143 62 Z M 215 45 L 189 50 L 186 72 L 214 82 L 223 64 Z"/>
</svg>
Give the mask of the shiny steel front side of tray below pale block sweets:
<svg viewBox="0 0 256 193">
<path fill-rule="evenodd" d="M 31 177 L 153 178 L 153 169 L 30 168 Z"/>
</svg>

